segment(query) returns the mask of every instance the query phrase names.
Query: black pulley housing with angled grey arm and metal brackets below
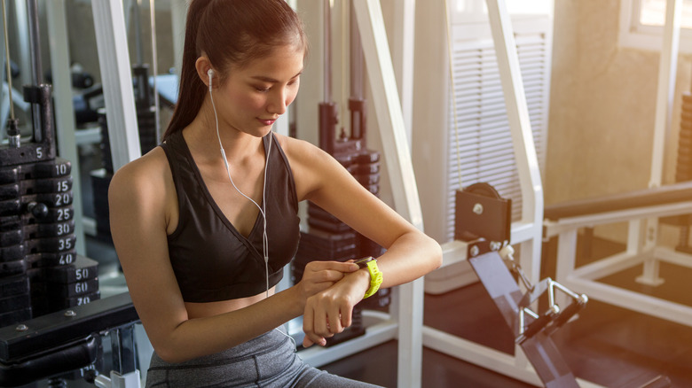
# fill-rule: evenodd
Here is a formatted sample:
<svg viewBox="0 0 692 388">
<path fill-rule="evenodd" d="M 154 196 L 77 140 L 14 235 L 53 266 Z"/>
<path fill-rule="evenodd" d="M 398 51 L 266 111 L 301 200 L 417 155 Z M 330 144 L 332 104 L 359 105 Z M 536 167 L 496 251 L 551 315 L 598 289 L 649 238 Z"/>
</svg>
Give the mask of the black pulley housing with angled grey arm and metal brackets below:
<svg viewBox="0 0 692 388">
<path fill-rule="evenodd" d="M 510 244 L 510 199 L 500 198 L 488 183 L 474 183 L 456 192 L 454 236 L 468 246 L 468 262 L 478 275 L 499 313 L 536 370 L 550 387 L 578 387 L 577 379 L 550 336 L 586 307 L 586 295 L 578 295 L 547 277 L 531 283 L 514 259 Z M 517 284 L 518 278 L 520 284 Z M 556 291 L 566 296 L 559 302 Z M 547 307 L 538 313 L 539 298 Z M 545 298 L 547 297 L 547 298 Z"/>
</svg>

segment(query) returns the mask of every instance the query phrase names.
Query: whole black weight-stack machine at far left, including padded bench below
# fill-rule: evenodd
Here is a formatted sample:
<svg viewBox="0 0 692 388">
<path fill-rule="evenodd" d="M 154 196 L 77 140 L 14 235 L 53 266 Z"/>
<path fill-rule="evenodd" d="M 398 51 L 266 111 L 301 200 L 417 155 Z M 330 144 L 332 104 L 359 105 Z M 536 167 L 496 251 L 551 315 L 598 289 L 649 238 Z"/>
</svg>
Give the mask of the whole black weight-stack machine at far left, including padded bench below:
<svg viewBox="0 0 692 388">
<path fill-rule="evenodd" d="M 71 163 L 56 156 L 51 85 L 41 82 L 37 7 L 29 5 L 35 84 L 24 87 L 24 99 L 33 132 L 22 138 L 11 106 L 9 141 L 0 146 L 0 385 L 85 378 L 138 386 L 130 296 L 100 299 L 98 263 L 75 251 Z M 110 377 L 98 376 L 106 335 Z"/>
</svg>

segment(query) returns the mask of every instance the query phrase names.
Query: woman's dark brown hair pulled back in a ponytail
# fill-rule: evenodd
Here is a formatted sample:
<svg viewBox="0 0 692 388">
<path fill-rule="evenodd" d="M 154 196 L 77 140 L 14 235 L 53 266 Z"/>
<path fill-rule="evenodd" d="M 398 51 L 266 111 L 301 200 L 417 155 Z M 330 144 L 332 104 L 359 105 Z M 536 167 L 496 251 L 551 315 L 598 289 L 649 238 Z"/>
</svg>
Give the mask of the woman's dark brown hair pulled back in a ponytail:
<svg viewBox="0 0 692 388">
<path fill-rule="evenodd" d="M 208 91 L 195 68 L 204 53 L 220 83 L 229 67 L 247 66 L 278 46 L 307 50 L 303 23 L 285 0 L 193 0 L 185 23 L 185 47 L 177 104 L 163 138 L 187 127 Z"/>
</svg>

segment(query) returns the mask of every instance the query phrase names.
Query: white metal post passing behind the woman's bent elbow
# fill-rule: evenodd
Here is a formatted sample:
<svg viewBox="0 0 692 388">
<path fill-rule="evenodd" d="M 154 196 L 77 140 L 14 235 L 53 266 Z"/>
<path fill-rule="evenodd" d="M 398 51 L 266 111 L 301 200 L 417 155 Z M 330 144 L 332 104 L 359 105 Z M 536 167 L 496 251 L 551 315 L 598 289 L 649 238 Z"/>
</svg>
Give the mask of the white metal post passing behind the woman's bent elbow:
<svg viewBox="0 0 692 388">
<path fill-rule="evenodd" d="M 421 201 L 405 133 L 404 114 L 389 56 L 379 0 L 353 3 L 358 20 L 375 116 L 388 167 L 394 207 L 413 226 L 423 229 Z M 391 314 L 398 322 L 398 386 L 420 386 L 422 369 L 423 279 L 397 287 Z"/>
</svg>

